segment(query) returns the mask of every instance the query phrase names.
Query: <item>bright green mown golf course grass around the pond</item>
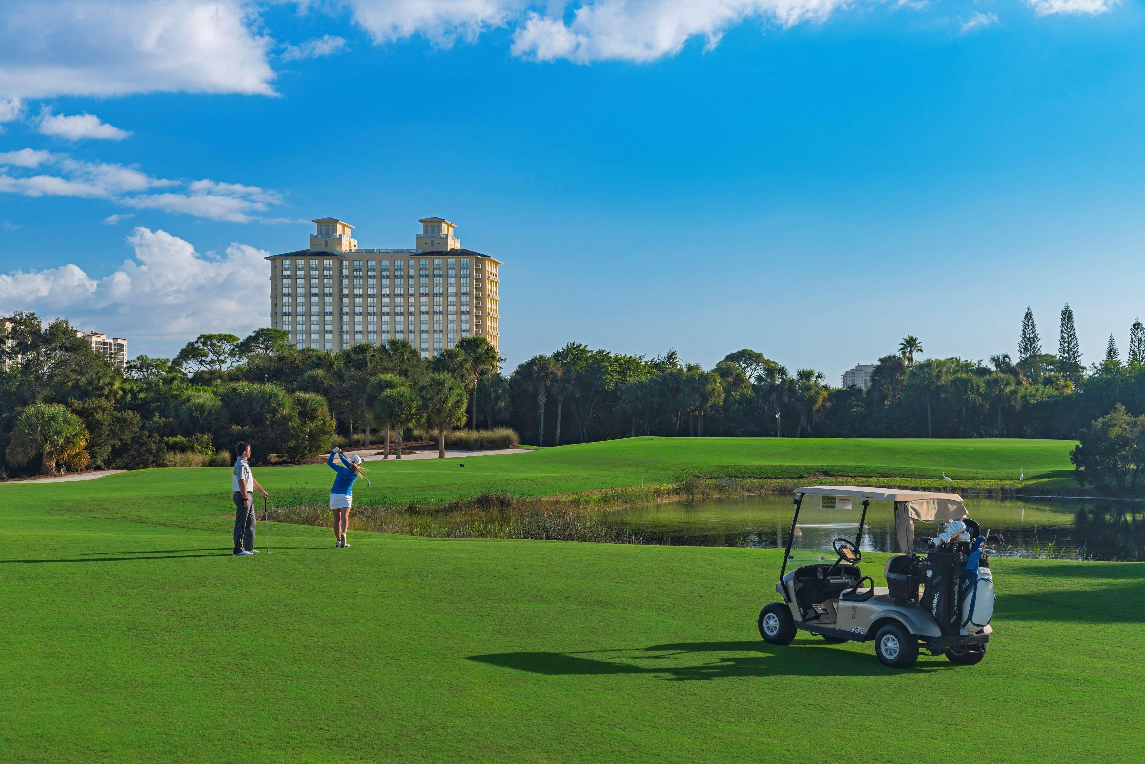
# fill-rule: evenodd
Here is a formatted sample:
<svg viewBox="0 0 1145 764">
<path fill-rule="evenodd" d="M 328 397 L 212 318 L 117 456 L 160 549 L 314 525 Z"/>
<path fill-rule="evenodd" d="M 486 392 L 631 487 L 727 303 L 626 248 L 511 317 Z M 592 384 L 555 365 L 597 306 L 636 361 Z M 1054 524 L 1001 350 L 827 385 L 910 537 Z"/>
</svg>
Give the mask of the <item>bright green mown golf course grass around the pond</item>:
<svg viewBox="0 0 1145 764">
<path fill-rule="evenodd" d="M 1071 447 L 775 442 L 637 439 L 464 468 L 374 462 L 373 488 L 355 494 L 538 496 L 808 466 L 988 478 L 1020 464 L 1029 478 L 1068 470 Z M 1143 564 L 997 559 L 985 661 L 924 655 L 894 670 L 870 645 L 760 640 L 776 550 L 366 533 L 339 550 L 327 529 L 269 523 L 273 556 L 232 558 L 227 473 L 0 486 L 6 761 L 1057 762 L 1138 750 Z M 271 491 L 330 482 L 324 466 L 255 475 Z M 881 578 L 882 560 L 868 556 L 863 572 Z"/>
</svg>

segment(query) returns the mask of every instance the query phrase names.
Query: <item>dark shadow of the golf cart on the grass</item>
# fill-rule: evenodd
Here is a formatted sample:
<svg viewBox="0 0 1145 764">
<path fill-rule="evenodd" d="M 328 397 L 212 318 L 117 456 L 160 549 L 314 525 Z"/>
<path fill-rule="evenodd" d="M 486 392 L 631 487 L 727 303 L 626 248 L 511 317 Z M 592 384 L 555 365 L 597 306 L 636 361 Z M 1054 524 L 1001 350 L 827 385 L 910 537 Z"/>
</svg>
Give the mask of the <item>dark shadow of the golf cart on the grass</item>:
<svg viewBox="0 0 1145 764">
<path fill-rule="evenodd" d="M 855 651 L 838 649 L 816 638 L 797 639 L 795 646 L 812 649 L 785 651 L 782 659 L 777 649 L 766 643 L 752 641 L 698 641 L 653 645 L 635 649 L 599 649 L 576 653 L 496 653 L 492 655 L 469 655 L 467 660 L 490 665 L 499 665 L 518 671 L 529 671 L 545 676 L 593 676 L 613 674 L 645 674 L 671 682 L 694 679 L 721 679 L 725 677 L 769 676 L 875 676 L 900 672 L 926 674 L 954 668 L 948 663 L 915 665 L 908 669 L 889 669 L 871 663 L 867 655 Z M 722 655 L 717 655 L 724 653 Z M 752 655 L 729 655 L 727 653 L 753 653 Z M 703 660 L 689 665 L 680 665 L 688 659 Z M 592 655 L 593 657 L 587 657 Z M 640 663 L 635 663 L 640 661 Z"/>
</svg>

